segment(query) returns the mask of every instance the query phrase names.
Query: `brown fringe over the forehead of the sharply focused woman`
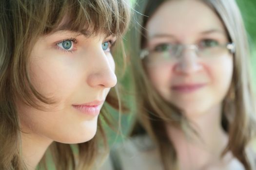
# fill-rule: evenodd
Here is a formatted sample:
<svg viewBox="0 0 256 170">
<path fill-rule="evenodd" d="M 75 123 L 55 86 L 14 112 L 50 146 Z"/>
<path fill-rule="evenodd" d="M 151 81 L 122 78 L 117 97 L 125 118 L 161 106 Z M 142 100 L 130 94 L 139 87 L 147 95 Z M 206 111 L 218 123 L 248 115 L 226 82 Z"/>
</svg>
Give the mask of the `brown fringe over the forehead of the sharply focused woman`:
<svg viewBox="0 0 256 170">
<path fill-rule="evenodd" d="M 130 20 L 130 3 L 126 0 L 64 0 L 49 7 L 52 9 L 48 10 L 44 34 L 70 30 L 120 36 Z"/>
</svg>

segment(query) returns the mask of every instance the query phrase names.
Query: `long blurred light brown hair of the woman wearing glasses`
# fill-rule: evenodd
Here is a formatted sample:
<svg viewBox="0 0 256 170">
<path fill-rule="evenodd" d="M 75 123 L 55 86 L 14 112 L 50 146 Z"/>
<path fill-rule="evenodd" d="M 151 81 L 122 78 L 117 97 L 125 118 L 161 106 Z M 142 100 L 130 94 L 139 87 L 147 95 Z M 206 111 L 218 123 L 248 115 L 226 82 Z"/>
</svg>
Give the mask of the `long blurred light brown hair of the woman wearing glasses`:
<svg viewBox="0 0 256 170">
<path fill-rule="evenodd" d="M 172 142 L 168 139 L 164 124 L 170 123 L 180 128 L 189 124 L 185 116 L 172 103 L 164 101 L 156 92 L 147 77 L 144 63 L 139 52 L 146 43 L 145 26 L 158 7 L 167 0 L 148 0 L 139 27 L 134 31 L 141 36 L 131 36 L 133 42 L 131 65 L 136 83 L 138 120 L 132 135 L 142 128 L 155 140 L 165 170 L 177 168 L 177 154 Z M 233 79 L 230 90 L 223 100 L 222 127 L 229 135 L 229 142 L 223 151 L 231 151 L 243 164 L 246 170 L 253 170 L 255 162 L 247 154 L 247 145 L 255 136 L 255 101 L 249 64 L 249 45 L 244 23 L 235 0 L 201 0 L 216 12 L 226 27 L 231 42 L 236 44 L 234 56 Z M 134 38 L 137 39 L 134 39 Z M 137 43 L 135 43 L 137 42 Z M 185 123 L 184 123 L 185 122 Z"/>
</svg>

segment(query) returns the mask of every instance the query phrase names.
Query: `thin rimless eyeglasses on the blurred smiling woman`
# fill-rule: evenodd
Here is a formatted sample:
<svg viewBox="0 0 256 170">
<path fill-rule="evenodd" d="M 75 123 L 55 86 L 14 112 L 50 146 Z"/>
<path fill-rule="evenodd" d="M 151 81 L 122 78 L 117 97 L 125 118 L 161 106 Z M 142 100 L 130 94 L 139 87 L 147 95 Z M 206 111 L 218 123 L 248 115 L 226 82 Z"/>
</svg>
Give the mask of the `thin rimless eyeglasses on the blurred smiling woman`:
<svg viewBox="0 0 256 170">
<path fill-rule="evenodd" d="M 140 52 L 140 58 L 142 60 L 147 58 L 152 63 L 167 62 L 180 57 L 185 49 L 195 51 L 197 56 L 202 58 L 218 57 L 227 50 L 231 53 L 235 53 L 236 50 L 234 43 L 219 44 L 215 40 L 205 40 L 192 45 L 162 43 L 153 49 L 143 49 Z"/>
</svg>

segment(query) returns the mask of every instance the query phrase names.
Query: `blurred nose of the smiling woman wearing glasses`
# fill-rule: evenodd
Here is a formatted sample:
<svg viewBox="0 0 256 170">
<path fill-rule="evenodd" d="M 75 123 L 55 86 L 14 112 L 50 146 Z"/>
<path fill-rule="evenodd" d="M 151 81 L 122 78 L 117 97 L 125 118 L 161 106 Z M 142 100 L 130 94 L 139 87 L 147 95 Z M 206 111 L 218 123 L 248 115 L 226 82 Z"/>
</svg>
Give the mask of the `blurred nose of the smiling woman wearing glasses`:
<svg viewBox="0 0 256 170">
<path fill-rule="evenodd" d="M 191 74 L 202 69 L 198 62 L 198 56 L 195 50 L 185 49 L 179 56 L 179 60 L 174 66 L 174 71 L 181 74 Z"/>
</svg>

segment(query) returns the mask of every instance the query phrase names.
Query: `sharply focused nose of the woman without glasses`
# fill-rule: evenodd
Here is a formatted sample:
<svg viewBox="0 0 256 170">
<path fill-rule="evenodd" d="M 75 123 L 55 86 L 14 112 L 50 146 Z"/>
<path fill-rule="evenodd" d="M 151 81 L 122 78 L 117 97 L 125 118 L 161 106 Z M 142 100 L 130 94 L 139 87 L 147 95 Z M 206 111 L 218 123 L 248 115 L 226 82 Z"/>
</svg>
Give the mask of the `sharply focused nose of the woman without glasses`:
<svg viewBox="0 0 256 170">
<path fill-rule="evenodd" d="M 117 84 L 115 62 L 110 53 L 105 54 L 102 49 L 94 53 L 90 68 L 92 70 L 87 78 L 88 85 L 110 88 Z"/>
</svg>

